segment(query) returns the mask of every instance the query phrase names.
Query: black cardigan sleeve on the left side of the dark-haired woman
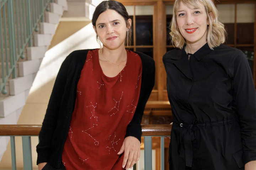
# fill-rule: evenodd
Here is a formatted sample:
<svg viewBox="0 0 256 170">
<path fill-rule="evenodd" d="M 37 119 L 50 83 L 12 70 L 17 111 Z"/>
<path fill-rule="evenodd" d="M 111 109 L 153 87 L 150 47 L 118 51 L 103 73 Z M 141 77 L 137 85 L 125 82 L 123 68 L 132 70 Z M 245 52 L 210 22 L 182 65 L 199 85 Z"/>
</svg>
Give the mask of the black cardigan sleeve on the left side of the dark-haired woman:
<svg viewBox="0 0 256 170">
<path fill-rule="evenodd" d="M 37 164 L 47 162 L 51 150 L 51 142 L 54 130 L 57 126 L 57 119 L 60 105 L 62 102 L 63 92 L 65 89 L 69 66 L 71 63 L 71 54 L 63 61 L 57 78 L 55 80 L 52 94 L 44 116 L 42 129 L 39 133 L 39 144 L 37 145 Z"/>
</svg>

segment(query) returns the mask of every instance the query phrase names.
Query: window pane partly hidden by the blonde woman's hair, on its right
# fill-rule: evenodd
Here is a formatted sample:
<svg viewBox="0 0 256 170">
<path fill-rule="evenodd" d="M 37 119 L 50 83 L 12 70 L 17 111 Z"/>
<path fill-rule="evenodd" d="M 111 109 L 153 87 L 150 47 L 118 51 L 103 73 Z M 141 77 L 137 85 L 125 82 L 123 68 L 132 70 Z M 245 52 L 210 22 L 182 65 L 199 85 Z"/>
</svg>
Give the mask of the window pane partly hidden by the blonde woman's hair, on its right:
<svg viewBox="0 0 256 170">
<path fill-rule="evenodd" d="M 235 4 L 217 5 L 219 11 L 219 21 L 225 25 L 227 39 L 224 44 L 234 44 L 235 34 Z"/>
</svg>

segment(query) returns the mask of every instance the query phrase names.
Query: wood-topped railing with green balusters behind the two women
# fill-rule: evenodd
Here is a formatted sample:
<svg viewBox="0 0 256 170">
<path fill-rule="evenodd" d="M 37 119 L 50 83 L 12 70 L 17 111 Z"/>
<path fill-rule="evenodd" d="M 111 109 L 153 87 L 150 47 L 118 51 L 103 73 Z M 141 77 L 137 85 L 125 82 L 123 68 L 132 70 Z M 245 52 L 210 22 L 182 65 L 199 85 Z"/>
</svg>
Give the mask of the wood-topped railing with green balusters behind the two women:
<svg viewBox="0 0 256 170">
<path fill-rule="evenodd" d="M 16 170 L 15 136 L 22 136 L 23 167 L 25 170 L 32 170 L 31 136 L 38 136 L 41 127 L 41 125 L 0 125 L 0 136 L 11 138 L 12 170 Z M 170 136 L 171 127 L 172 125 L 142 125 L 145 170 L 152 170 L 153 136 L 161 137 L 161 170 L 164 170 L 164 137 Z"/>
</svg>

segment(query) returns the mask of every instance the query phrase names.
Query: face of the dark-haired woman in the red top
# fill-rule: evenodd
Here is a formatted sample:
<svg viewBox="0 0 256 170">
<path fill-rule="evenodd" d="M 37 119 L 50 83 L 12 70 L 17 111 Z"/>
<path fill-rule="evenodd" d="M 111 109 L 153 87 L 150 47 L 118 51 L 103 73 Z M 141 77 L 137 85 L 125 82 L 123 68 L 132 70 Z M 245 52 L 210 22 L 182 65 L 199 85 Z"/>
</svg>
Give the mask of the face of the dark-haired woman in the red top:
<svg viewBox="0 0 256 170">
<path fill-rule="evenodd" d="M 108 9 L 98 16 L 94 30 L 103 46 L 114 50 L 124 45 L 127 22 L 119 13 Z"/>
</svg>

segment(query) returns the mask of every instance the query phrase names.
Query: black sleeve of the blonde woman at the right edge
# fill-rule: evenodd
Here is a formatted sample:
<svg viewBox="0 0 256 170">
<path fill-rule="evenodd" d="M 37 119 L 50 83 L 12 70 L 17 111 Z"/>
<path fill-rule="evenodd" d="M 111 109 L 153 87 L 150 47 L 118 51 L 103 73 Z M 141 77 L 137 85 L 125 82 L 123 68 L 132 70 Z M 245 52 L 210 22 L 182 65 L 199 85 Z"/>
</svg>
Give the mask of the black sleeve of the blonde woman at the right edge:
<svg viewBox="0 0 256 170">
<path fill-rule="evenodd" d="M 236 50 L 229 63 L 233 93 L 241 127 L 244 163 L 256 160 L 256 93 L 245 54 Z"/>
</svg>

